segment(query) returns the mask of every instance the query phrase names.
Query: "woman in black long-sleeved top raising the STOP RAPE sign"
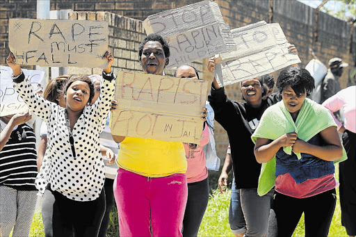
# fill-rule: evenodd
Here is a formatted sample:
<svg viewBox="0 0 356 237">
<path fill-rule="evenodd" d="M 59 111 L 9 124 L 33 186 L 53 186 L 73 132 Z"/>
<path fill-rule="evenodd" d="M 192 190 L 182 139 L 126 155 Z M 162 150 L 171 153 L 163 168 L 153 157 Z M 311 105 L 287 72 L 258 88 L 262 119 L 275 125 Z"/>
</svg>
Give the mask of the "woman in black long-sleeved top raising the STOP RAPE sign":
<svg viewBox="0 0 356 237">
<path fill-rule="evenodd" d="M 295 45 L 291 44 L 289 51 L 298 54 Z M 209 72 L 213 72 L 216 58 L 208 62 Z M 214 109 L 216 121 L 227 131 L 232 154 L 232 169 L 234 171 L 235 189 L 239 190 L 241 200 L 232 199 L 236 207 L 232 212 L 230 223 L 235 236 L 267 236 L 268 217 L 273 190 L 264 197 L 257 194 L 257 185 L 261 165 L 254 158 L 254 143 L 250 136 L 259 126 L 259 120 L 266 108 L 280 101 L 280 95 L 273 93 L 262 99 L 264 87 L 257 76 L 240 83 L 241 94 L 245 102 L 241 103 L 227 97 L 225 88 L 218 85 L 215 77 L 211 85 L 209 102 Z M 223 182 L 219 183 L 221 189 Z M 241 209 L 238 206 L 241 205 Z M 238 211 L 238 212 L 237 212 Z"/>
</svg>

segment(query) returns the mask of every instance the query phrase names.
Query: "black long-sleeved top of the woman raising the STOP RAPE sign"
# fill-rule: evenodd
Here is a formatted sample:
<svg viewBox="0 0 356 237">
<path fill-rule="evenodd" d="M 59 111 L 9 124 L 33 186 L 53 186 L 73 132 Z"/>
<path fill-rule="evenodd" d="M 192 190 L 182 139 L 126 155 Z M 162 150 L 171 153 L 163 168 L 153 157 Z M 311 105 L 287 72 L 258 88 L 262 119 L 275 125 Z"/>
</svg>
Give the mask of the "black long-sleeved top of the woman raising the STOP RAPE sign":
<svg viewBox="0 0 356 237">
<path fill-rule="evenodd" d="M 246 102 L 227 98 L 224 88 L 211 88 L 208 100 L 215 112 L 215 120 L 229 136 L 236 188 L 257 188 L 261 164 L 254 157 L 251 136 L 266 108 L 282 100 L 281 95 L 273 93 L 259 108 L 252 108 Z"/>
</svg>

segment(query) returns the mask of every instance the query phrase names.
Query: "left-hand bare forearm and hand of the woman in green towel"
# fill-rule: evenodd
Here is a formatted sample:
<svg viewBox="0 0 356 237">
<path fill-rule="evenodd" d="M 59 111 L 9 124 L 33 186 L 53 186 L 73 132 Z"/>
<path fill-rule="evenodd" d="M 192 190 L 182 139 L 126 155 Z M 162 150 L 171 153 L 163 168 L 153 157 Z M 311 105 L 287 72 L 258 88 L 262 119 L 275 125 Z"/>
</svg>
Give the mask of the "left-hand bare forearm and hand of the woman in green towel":
<svg viewBox="0 0 356 237">
<path fill-rule="evenodd" d="M 281 147 L 293 146 L 297 140 L 297 133 L 286 133 L 276 140 L 257 138 L 254 145 L 254 156 L 258 163 L 270 161 Z"/>
</svg>

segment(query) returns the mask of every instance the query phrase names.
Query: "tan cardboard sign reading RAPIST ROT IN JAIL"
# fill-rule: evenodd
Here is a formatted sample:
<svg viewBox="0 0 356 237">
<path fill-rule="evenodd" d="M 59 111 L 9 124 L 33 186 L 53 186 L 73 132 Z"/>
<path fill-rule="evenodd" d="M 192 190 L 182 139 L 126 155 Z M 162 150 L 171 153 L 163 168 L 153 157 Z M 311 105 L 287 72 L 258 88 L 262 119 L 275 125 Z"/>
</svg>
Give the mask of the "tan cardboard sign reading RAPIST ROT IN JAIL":
<svg viewBox="0 0 356 237">
<path fill-rule="evenodd" d="M 118 72 L 111 133 L 199 144 L 207 81 Z"/>
</svg>

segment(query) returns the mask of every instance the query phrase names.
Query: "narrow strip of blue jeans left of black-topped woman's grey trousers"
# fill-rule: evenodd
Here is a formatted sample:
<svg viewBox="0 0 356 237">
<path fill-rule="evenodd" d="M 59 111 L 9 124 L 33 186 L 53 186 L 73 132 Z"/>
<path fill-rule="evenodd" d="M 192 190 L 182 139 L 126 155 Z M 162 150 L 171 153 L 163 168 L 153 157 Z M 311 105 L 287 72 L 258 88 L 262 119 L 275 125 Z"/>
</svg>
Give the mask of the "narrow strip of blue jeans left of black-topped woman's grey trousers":
<svg viewBox="0 0 356 237">
<path fill-rule="evenodd" d="M 241 209 L 240 190 L 235 188 L 235 179 L 232 179 L 229 224 L 232 234 L 241 234 L 246 231 L 245 216 Z"/>
</svg>

